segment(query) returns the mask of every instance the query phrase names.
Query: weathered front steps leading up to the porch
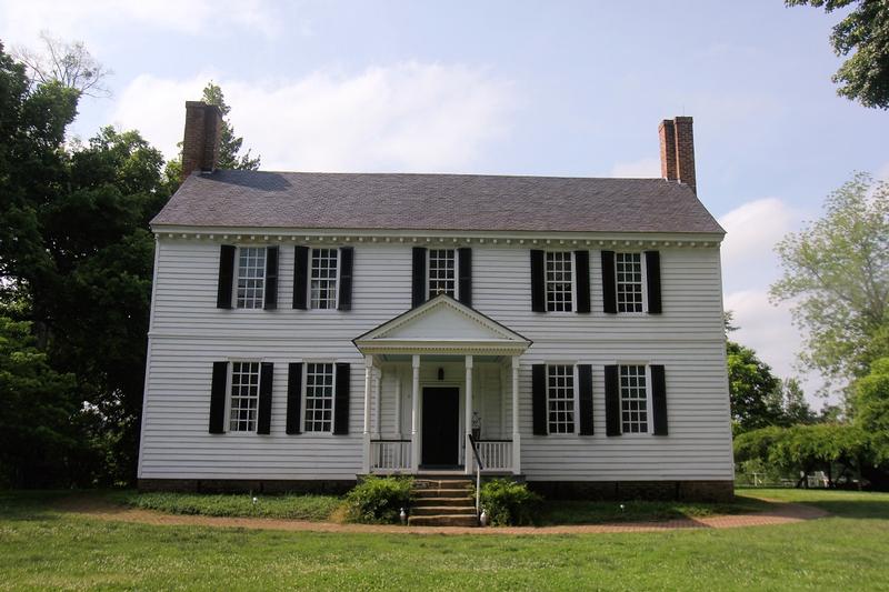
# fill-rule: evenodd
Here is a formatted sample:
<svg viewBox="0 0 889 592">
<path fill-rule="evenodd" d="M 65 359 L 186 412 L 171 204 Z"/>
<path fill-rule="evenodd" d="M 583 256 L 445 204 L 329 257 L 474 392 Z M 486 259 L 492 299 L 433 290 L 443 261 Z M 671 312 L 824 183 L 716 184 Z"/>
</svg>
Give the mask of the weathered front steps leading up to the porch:
<svg viewBox="0 0 889 592">
<path fill-rule="evenodd" d="M 412 526 L 478 526 L 472 482 L 465 478 L 418 479 L 413 486 Z"/>
</svg>

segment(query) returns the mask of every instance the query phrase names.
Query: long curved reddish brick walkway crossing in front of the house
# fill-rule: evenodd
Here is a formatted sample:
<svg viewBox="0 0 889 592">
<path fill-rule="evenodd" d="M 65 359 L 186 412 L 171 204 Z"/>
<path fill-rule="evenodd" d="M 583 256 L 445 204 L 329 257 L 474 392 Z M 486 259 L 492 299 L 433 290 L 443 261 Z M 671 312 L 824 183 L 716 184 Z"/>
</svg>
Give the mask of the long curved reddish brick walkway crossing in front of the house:
<svg viewBox="0 0 889 592">
<path fill-rule="evenodd" d="M 507 526 L 490 529 L 455 526 L 398 526 L 368 524 L 338 524 L 334 522 L 307 522 L 300 520 L 279 520 L 267 518 L 216 518 L 200 515 L 177 515 L 137 510 L 114 505 L 106 500 L 90 496 L 76 496 L 63 500 L 57 509 L 88 518 L 119 522 L 134 522 L 154 525 L 196 525 L 282 531 L 310 532 L 369 532 L 369 533 L 411 533 L 411 534 L 588 534 L 608 532 L 659 532 L 683 529 L 737 529 L 743 526 L 767 526 L 791 524 L 828 515 L 827 512 L 808 505 L 770 502 L 773 508 L 760 513 L 717 515 L 701 519 L 679 519 L 663 522 L 625 522 L 612 524 L 586 524 L 563 526 Z"/>
</svg>

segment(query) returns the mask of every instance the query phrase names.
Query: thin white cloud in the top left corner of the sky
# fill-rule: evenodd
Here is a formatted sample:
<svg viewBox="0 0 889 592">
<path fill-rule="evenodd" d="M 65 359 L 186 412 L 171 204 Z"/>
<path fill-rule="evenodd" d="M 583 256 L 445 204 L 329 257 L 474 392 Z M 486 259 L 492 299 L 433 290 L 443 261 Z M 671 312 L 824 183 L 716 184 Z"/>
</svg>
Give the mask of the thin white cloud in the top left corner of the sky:
<svg viewBox="0 0 889 592">
<path fill-rule="evenodd" d="M 98 29 L 150 27 L 187 34 L 216 33 L 220 26 L 274 34 L 279 30 L 264 0 L 3 0 L 0 34 L 34 44 L 42 30 L 62 39 L 82 39 Z"/>
</svg>

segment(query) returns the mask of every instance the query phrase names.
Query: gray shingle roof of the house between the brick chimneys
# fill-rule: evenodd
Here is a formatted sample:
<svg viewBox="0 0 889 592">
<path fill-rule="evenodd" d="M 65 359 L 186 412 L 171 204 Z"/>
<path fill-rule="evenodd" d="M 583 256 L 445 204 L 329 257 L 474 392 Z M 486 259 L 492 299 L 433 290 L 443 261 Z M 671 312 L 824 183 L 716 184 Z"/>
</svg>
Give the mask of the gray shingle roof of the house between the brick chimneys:
<svg viewBox="0 0 889 592">
<path fill-rule="evenodd" d="M 190 175 L 153 225 L 722 233 L 662 179 L 214 171 Z"/>
</svg>

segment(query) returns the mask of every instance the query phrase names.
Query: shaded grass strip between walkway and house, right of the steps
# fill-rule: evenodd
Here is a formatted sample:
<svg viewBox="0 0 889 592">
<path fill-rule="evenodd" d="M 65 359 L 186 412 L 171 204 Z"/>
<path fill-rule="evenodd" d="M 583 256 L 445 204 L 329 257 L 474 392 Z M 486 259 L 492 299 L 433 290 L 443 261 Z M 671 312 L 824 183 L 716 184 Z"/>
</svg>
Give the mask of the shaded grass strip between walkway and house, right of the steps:
<svg viewBox="0 0 889 592">
<path fill-rule="evenodd" d="M 657 522 L 679 518 L 706 518 L 716 514 L 762 512 L 768 504 L 738 495 L 732 503 L 689 502 L 590 502 L 547 501 L 539 518 L 540 525 L 600 524 L 603 522 Z"/>
</svg>

